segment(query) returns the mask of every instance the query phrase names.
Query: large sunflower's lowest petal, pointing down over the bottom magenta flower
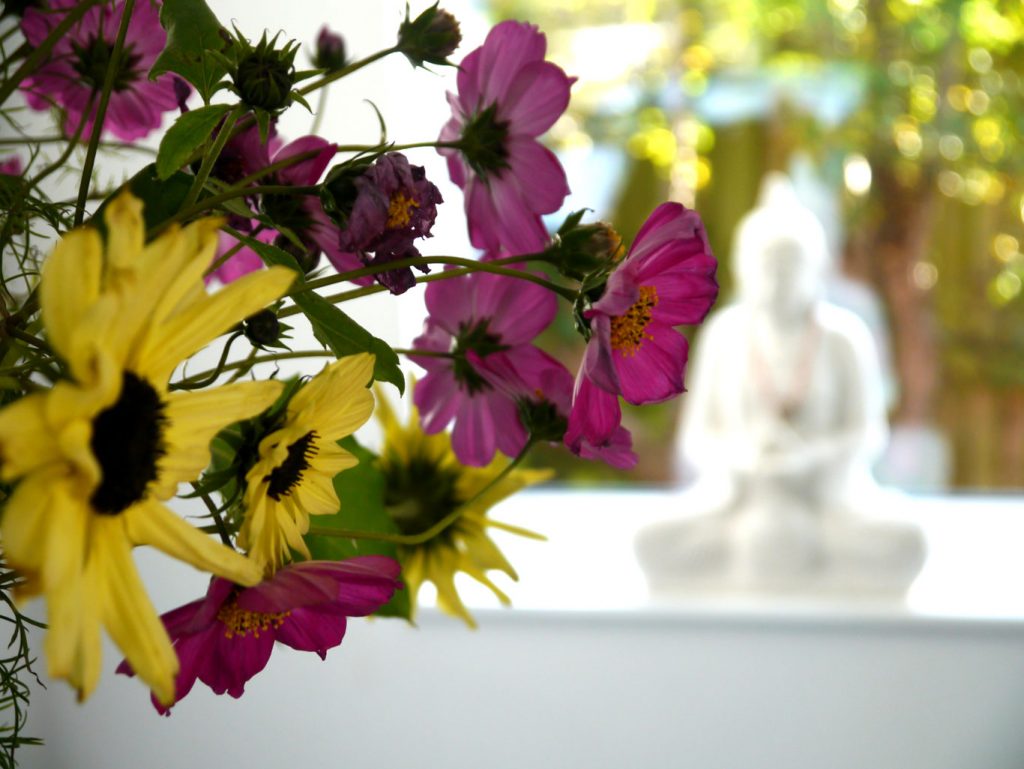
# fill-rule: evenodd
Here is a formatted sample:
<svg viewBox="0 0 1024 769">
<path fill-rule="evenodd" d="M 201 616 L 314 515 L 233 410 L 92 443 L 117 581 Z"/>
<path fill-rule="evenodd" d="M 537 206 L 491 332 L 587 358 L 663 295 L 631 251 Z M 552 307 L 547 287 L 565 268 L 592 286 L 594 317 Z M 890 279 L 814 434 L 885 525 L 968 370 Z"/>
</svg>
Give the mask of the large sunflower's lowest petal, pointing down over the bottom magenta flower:
<svg viewBox="0 0 1024 769">
<path fill-rule="evenodd" d="M 145 594 L 121 523 L 117 517 L 97 520 L 92 538 L 89 566 L 96 569 L 100 615 L 135 674 L 169 704 L 174 701 L 178 657 Z"/>
</svg>

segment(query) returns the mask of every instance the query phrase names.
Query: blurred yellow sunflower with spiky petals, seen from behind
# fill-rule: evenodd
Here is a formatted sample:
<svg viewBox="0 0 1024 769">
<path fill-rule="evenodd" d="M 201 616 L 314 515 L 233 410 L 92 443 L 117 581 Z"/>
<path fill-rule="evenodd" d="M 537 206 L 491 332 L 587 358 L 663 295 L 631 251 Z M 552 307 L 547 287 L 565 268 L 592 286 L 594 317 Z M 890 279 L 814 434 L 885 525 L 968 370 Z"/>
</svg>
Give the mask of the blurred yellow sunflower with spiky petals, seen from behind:
<svg viewBox="0 0 1024 769">
<path fill-rule="evenodd" d="M 420 586 L 430 582 L 437 588 L 438 607 L 475 628 L 473 616 L 456 590 L 455 575 L 459 571 L 469 574 L 489 588 L 502 603 L 509 603 L 508 596 L 489 580 L 487 571 L 504 571 L 513 580 L 518 575 L 487 536 L 487 528 L 544 538 L 492 520 L 487 510 L 520 488 L 550 478 L 551 472 L 513 470 L 490 485 L 510 460 L 499 457 L 486 467 L 463 466 L 452 451 L 450 435 L 424 433 L 415 410 L 409 425 L 401 425 L 387 399 L 379 397 L 377 415 L 384 427 L 384 450 L 380 457 L 385 477 L 384 501 L 398 530 L 406 536 L 423 533 L 465 505 L 456 521 L 432 539 L 419 545 L 398 546 L 401 576 L 413 597 L 414 609 Z M 480 492 L 483 494 L 474 499 Z"/>
</svg>

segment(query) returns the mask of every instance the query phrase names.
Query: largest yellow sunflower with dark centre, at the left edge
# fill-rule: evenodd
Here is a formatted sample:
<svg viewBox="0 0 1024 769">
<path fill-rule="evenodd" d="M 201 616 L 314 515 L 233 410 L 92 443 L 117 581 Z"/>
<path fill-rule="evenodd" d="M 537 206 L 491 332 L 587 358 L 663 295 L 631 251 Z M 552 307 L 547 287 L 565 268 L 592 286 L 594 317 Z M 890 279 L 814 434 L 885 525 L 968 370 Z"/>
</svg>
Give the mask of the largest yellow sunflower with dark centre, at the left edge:
<svg viewBox="0 0 1024 769">
<path fill-rule="evenodd" d="M 27 579 L 23 592 L 46 596 L 51 676 L 88 696 L 103 626 L 169 704 L 177 657 L 131 548 L 153 545 L 244 585 L 260 580 L 255 563 L 162 500 L 207 466 L 218 430 L 262 411 L 281 385 L 169 392 L 168 379 L 183 358 L 284 294 L 293 274 L 262 270 L 208 295 L 203 271 L 219 221 L 175 227 L 144 245 L 141 208 L 119 197 L 105 214 L 105 251 L 95 229 L 80 228 L 44 263 L 43 326 L 70 378 L 0 411 L 0 478 L 18 481 L 0 536 Z"/>
</svg>

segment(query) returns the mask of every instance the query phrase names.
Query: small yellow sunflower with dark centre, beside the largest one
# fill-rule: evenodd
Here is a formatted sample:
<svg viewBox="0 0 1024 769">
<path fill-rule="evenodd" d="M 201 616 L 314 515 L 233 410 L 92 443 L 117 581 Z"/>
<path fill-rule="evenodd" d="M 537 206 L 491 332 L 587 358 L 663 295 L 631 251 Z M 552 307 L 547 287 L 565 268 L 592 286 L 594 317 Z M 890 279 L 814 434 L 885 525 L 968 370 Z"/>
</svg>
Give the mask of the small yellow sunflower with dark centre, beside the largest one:
<svg viewBox="0 0 1024 769">
<path fill-rule="evenodd" d="M 334 476 L 358 460 L 337 441 L 370 419 L 373 373 L 367 353 L 325 367 L 291 399 L 281 429 L 260 441 L 259 460 L 246 474 L 239 545 L 265 572 L 290 560 L 290 550 L 309 558 L 302 540 L 309 516 L 338 512 Z"/>
</svg>

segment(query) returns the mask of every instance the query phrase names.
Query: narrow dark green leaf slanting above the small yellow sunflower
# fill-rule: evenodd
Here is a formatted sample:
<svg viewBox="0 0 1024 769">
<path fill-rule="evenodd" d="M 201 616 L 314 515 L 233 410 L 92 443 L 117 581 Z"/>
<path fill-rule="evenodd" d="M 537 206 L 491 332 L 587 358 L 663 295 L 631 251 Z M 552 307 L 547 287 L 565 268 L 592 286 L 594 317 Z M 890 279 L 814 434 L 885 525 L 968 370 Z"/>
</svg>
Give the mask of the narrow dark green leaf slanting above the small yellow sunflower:
<svg viewBox="0 0 1024 769">
<path fill-rule="evenodd" d="M 301 289 L 305 284 L 302 270 L 299 269 L 295 258 L 287 251 L 276 246 L 260 243 L 253 238 L 243 238 L 242 240 L 267 264 L 282 264 L 294 269 L 299 277 L 293 284 L 293 290 Z M 292 299 L 309 318 L 316 339 L 335 355 L 342 357 L 357 352 L 372 352 L 376 356 L 374 379 L 378 382 L 393 384 L 398 388 L 398 392 L 404 393 L 406 378 L 398 366 L 398 355 L 387 342 L 375 337 L 315 292 L 299 291 Z"/>
</svg>

